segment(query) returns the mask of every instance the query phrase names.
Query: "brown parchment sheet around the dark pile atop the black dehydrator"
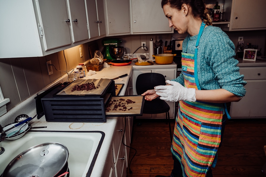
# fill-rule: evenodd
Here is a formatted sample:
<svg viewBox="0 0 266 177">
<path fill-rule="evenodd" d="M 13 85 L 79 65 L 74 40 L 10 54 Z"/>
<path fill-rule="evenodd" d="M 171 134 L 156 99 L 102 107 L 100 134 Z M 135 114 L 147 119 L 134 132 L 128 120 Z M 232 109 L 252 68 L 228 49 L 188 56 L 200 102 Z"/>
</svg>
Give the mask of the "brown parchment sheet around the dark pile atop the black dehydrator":
<svg viewBox="0 0 266 177">
<path fill-rule="evenodd" d="M 74 91 L 71 92 L 72 88 L 75 85 L 81 85 L 86 83 L 93 82 L 96 89 L 93 90 L 82 90 L 82 91 Z M 108 86 L 111 82 L 111 79 L 77 79 L 68 85 L 64 90 L 60 91 L 56 95 L 100 95 L 103 90 Z M 100 86 L 99 86 L 100 85 Z M 98 87 L 98 88 L 97 88 Z"/>
</svg>

